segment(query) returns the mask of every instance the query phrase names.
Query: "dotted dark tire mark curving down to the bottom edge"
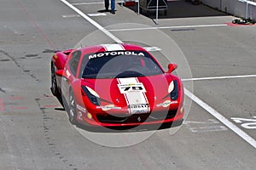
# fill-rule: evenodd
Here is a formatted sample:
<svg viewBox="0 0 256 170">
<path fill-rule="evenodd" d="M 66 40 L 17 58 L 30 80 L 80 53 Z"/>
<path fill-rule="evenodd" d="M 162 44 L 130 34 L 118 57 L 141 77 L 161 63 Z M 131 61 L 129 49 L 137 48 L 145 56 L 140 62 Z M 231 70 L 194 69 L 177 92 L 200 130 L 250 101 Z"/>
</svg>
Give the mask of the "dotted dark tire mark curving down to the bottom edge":
<svg viewBox="0 0 256 170">
<path fill-rule="evenodd" d="M 70 163 L 70 161 L 68 161 L 67 157 L 64 156 L 60 150 L 58 150 L 56 148 L 56 142 L 55 142 L 55 138 L 52 137 L 54 135 L 52 135 L 51 133 L 53 133 L 54 130 L 54 122 L 53 122 L 53 117 L 50 117 L 47 113 L 46 113 L 46 108 L 44 106 L 42 106 L 40 104 L 40 99 L 35 99 L 39 110 L 42 112 L 43 114 L 43 128 L 44 128 L 44 139 L 46 141 L 46 143 L 49 146 L 49 149 L 53 152 L 53 154 L 60 160 L 62 161 L 66 166 L 67 169 L 73 169 L 73 170 L 78 170 L 77 166 L 74 165 L 73 163 Z"/>
</svg>

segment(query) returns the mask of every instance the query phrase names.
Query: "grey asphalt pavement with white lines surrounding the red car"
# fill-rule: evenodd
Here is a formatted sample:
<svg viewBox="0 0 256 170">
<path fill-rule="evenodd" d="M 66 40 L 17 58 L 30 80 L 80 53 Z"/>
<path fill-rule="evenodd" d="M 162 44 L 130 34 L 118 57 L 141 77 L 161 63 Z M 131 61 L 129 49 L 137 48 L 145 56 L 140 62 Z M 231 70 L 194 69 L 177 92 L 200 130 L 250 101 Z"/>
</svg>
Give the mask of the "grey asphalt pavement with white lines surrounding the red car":
<svg viewBox="0 0 256 170">
<path fill-rule="evenodd" d="M 154 13 L 119 3 L 109 14 L 98 0 L 2 0 L 0 169 L 255 169 L 256 27 L 233 26 L 234 17 L 203 5 L 170 4 L 155 25 Z M 189 115 L 177 133 L 109 147 L 68 122 L 49 91 L 49 61 L 83 37 L 82 45 L 133 41 L 155 54 L 170 48 L 166 39 L 177 43 L 192 73 L 182 77 Z"/>
</svg>

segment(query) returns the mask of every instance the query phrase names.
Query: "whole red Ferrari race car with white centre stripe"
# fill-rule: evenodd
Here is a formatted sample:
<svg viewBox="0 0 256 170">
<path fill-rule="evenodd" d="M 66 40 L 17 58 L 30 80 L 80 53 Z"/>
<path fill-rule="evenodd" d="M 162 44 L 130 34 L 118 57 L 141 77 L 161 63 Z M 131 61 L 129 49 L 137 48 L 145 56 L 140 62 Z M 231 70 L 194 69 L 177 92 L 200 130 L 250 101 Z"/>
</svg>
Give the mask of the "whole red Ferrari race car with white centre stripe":
<svg viewBox="0 0 256 170">
<path fill-rule="evenodd" d="M 102 127 L 183 122 L 183 84 L 144 48 L 104 44 L 56 52 L 51 92 L 69 121 Z"/>
</svg>

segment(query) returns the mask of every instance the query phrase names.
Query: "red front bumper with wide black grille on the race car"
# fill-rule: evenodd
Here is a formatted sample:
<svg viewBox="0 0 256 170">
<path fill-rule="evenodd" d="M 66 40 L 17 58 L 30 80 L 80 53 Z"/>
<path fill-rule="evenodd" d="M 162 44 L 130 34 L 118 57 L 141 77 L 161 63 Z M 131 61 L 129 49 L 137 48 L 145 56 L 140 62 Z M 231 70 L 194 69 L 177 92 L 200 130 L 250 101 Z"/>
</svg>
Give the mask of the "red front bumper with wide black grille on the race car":
<svg viewBox="0 0 256 170">
<path fill-rule="evenodd" d="M 150 113 L 141 114 L 117 114 L 116 112 L 86 111 L 79 112 L 78 122 L 84 125 L 96 127 L 129 127 L 140 125 L 163 124 L 170 122 L 182 122 L 183 106 L 176 109 L 162 110 L 160 108 Z"/>
</svg>

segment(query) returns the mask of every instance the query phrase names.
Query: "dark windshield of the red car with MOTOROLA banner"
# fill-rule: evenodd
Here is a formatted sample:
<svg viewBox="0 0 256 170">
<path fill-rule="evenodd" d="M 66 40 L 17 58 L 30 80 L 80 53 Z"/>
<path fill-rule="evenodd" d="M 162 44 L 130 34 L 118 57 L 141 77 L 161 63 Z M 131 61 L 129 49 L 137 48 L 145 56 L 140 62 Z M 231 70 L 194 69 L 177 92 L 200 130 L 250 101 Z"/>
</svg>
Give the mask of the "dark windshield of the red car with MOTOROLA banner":
<svg viewBox="0 0 256 170">
<path fill-rule="evenodd" d="M 143 51 L 85 54 L 80 68 L 83 78 L 148 77 L 163 73 L 154 59 Z"/>
</svg>

